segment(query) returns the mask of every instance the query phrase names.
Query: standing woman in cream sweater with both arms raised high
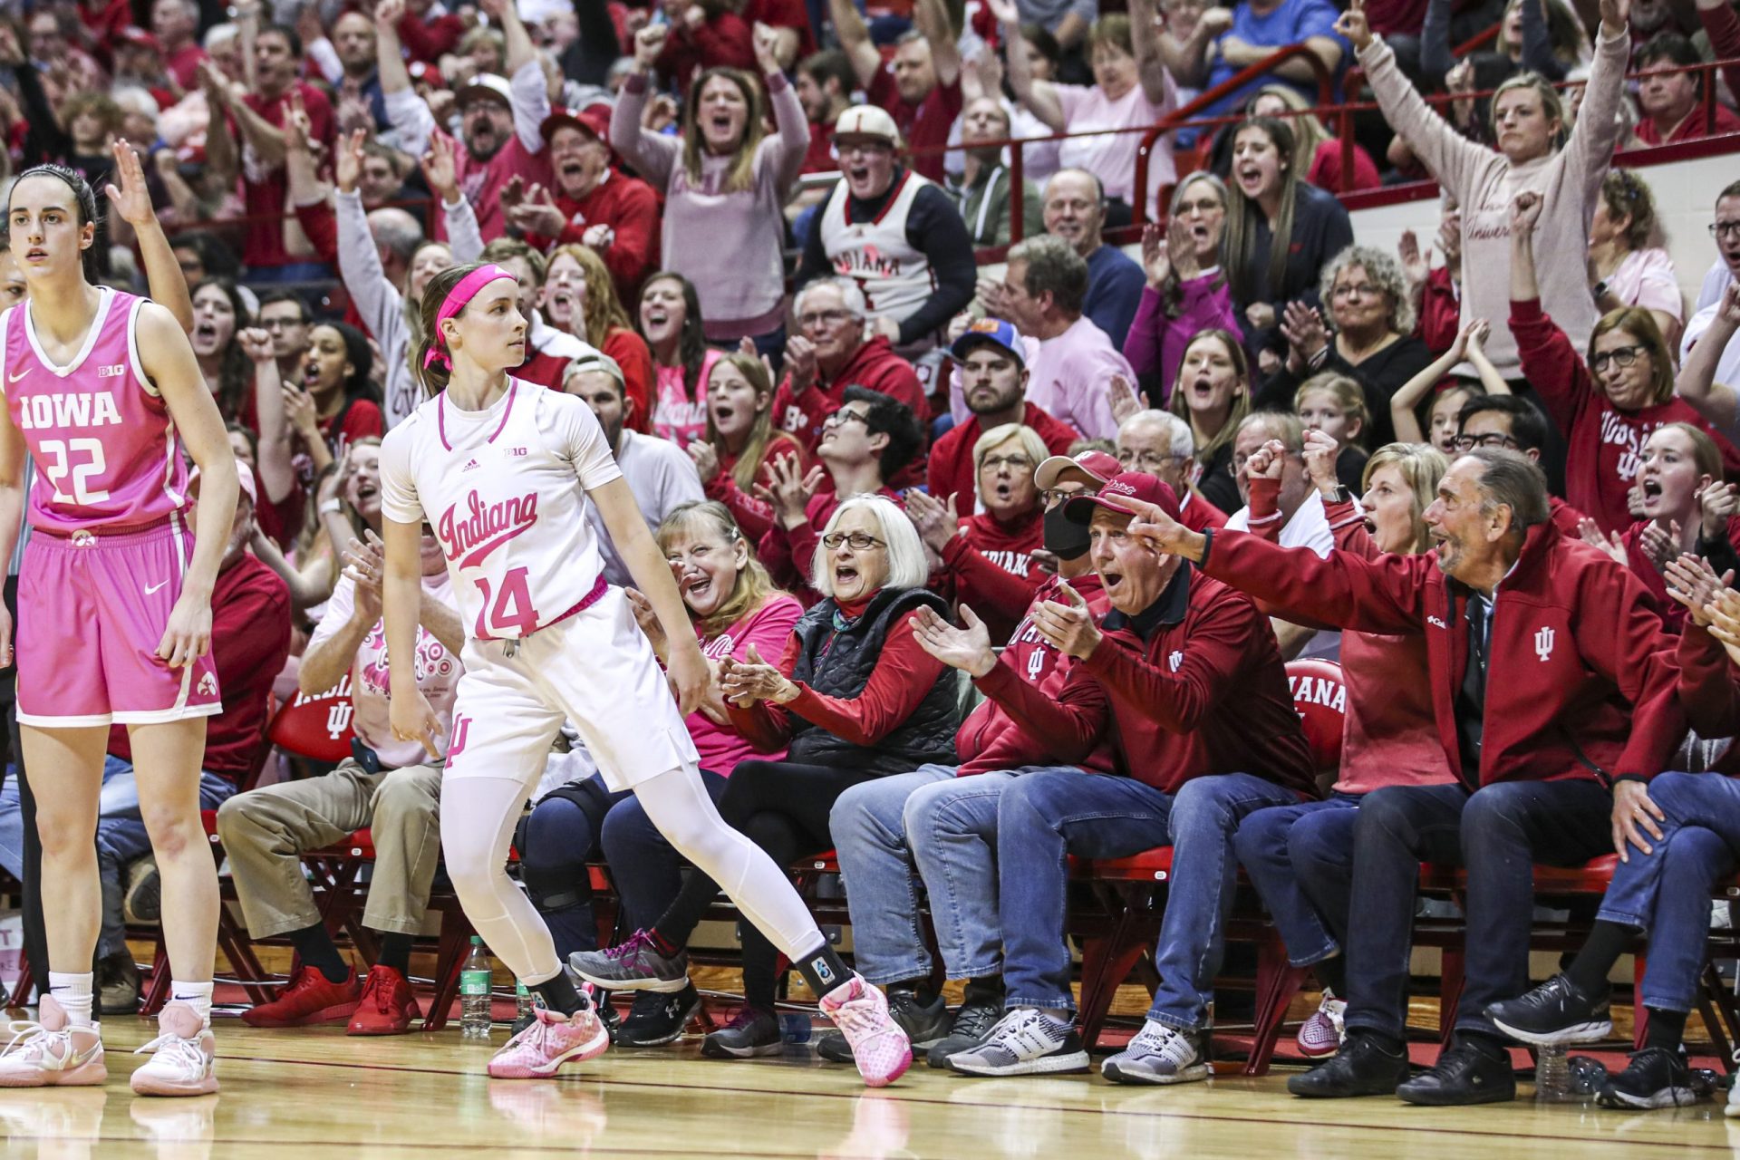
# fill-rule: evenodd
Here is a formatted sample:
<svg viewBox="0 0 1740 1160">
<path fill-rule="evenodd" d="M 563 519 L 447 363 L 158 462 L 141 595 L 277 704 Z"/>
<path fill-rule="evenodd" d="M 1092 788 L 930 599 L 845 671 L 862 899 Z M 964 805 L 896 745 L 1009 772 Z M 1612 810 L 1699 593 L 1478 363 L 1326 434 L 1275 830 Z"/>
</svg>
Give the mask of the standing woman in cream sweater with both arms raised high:
<svg viewBox="0 0 1740 1160">
<path fill-rule="evenodd" d="M 1498 320 L 1507 317 L 1510 297 L 1510 202 L 1531 190 L 1547 202 L 1536 238 L 1545 257 L 1542 303 L 1582 346 L 1599 318 L 1589 289 L 1589 219 L 1620 136 L 1630 0 L 1601 0 L 1596 59 L 1569 136 L 1557 90 L 1535 73 L 1521 73 L 1493 94 L 1496 153 L 1432 111 L 1395 66 L 1395 54 L 1366 26 L 1362 9 L 1364 0 L 1354 0 L 1336 31 L 1359 52 L 1385 120 L 1462 207 L 1462 323 L 1489 318 L 1495 325 L 1486 355 L 1502 376 L 1519 377 L 1517 344 Z"/>
</svg>

